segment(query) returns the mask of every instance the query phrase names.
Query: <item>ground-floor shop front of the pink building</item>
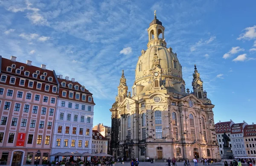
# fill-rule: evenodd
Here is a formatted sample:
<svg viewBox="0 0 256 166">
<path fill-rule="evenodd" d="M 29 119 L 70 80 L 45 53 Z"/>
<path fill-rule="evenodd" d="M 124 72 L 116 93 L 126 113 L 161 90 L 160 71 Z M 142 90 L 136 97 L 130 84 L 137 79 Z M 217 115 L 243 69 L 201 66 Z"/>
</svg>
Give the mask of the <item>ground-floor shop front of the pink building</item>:
<svg viewBox="0 0 256 166">
<path fill-rule="evenodd" d="M 51 149 L 0 148 L 0 165 L 41 165 L 47 162 Z"/>
</svg>

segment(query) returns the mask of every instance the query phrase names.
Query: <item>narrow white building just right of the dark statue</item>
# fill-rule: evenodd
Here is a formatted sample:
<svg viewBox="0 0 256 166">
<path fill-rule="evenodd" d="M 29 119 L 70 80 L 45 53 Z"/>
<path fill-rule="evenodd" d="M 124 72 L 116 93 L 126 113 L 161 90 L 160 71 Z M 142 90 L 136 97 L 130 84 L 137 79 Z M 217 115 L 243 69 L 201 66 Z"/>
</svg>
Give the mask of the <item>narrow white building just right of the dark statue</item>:
<svg viewBox="0 0 256 166">
<path fill-rule="evenodd" d="M 231 126 L 231 143 L 233 147 L 233 154 L 235 158 L 247 157 L 245 144 L 244 144 L 244 127 L 248 125 L 246 122 L 233 124 Z"/>
</svg>

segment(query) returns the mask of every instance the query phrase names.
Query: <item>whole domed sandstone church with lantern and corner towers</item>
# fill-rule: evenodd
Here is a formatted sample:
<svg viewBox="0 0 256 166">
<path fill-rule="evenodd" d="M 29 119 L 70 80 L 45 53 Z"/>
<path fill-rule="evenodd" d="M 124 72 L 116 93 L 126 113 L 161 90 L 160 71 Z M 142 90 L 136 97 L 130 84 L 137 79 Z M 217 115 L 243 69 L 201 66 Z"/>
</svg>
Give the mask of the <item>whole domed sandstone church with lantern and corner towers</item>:
<svg viewBox="0 0 256 166">
<path fill-rule="evenodd" d="M 128 92 L 122 71 L 112 113 L 111 155 L 115 158 L 217 158 L 212 109 L 197 67 L 192 91 L 185 88 L 177 53 L 167 48 L 165 28 L 154 17 L 148 28 L 135 82 Z"/>
</svg>

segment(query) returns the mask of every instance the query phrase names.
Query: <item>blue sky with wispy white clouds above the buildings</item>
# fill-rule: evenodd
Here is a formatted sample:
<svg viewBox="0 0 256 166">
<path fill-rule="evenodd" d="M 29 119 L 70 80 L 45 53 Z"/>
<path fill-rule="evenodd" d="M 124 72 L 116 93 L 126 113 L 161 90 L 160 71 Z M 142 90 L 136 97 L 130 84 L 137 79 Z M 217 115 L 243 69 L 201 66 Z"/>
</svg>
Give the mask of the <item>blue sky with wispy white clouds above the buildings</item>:
<svg viewBox="0 0 256 166">
<path fill-rule="evenodd" d="M 192 89 L 194 64 L 214 119 L 255 122 L 256 1 L 0 0 L 0 55 L 46 64 L 93 93 L 94 124 L 111 126 L 122 69 L 129 90 L 154 10 Z"/>
</svg>

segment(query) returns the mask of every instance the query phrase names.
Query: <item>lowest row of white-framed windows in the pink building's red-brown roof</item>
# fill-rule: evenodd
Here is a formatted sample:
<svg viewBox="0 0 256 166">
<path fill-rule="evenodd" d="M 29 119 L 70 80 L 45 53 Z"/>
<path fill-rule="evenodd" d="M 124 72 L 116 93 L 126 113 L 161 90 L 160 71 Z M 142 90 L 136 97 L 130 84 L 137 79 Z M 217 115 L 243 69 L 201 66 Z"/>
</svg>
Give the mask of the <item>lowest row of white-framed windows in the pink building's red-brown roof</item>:
<svg viewBox="0 0 256 166">
<path fill-rule="evenodd" d="M 6 82 L 6 79 L 7 79 L 7 76 L 2 75 L 0 81 L 1 82 Z M 25 81 L 26 81 L 26 79 L 20 79 L 19 85 L 20 86 L 25 86 Z M 15 82 L 16 82 L 16 78 L 11 76 L 9 83 L 10 84 L 15 84 Z M 33 88 L 34 87 L 34 81 L 29 80 L 28 87 Z M 42 87 L 42 83 L 37 82 L 36 89 L 41 90 L 41 87 Z M 46 84 L 45 87 L 44 87 L 44 90 L 49 92 L 49 89 L 50 89 L 50 85 Z M 56 91 L 57 91 L 57 87 L 52 87 L 52 92 L 56 93 Z"/>
</svg>

